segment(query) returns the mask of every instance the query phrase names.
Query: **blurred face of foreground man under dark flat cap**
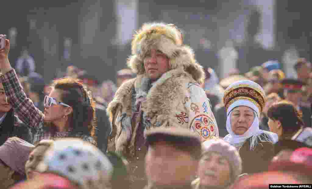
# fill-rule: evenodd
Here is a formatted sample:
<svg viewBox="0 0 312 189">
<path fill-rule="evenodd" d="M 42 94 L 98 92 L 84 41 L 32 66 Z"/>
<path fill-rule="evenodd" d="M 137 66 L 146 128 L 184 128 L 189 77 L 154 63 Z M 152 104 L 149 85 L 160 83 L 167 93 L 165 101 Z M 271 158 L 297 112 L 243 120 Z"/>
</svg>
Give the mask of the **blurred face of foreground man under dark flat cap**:
<svg viewBox="0 0 312 189">
<path fill-rule="evenodd" d="M 149 146 L 145 157 L 145 172 L 156 185 L 185 184 L 196 174 L 198 161 L 173 145 L 158 142 Z"/>
</svg>

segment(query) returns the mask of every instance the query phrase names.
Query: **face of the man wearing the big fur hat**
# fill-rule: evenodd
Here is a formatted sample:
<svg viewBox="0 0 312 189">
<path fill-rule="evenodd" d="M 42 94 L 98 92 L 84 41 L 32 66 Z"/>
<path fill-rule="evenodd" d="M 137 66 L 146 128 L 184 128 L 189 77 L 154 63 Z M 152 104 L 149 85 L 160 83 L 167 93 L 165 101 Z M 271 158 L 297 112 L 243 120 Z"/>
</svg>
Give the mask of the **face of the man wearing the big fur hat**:
<svg viewBox="0 0 312 189">
<path fill-rule="evenodd" d="M 169 70 L 169 58 L 163 52 L 152 49 L 144 57 L 144 69 L 148 77 L 155 81 Z"/>
</svg>

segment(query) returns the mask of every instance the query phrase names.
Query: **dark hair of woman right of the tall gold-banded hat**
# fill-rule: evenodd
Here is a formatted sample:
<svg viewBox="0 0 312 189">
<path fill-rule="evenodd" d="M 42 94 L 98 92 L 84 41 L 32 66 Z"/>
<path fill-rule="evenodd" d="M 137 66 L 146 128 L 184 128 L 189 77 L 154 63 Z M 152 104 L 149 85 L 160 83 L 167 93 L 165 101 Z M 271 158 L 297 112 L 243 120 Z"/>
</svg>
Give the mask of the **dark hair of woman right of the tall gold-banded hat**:
<svg viewBox="0 0 312 189">
<path fill-rule="evenodd" d="M 283 128 L 283 138 L 291 137 L 301 127 L 305 126 L 302 121 L 302 113 L 295 108 L 293 103 L 287 100 L 273 103 L 267 114 L 270 119 L 280 121 Z"/>
</svg>

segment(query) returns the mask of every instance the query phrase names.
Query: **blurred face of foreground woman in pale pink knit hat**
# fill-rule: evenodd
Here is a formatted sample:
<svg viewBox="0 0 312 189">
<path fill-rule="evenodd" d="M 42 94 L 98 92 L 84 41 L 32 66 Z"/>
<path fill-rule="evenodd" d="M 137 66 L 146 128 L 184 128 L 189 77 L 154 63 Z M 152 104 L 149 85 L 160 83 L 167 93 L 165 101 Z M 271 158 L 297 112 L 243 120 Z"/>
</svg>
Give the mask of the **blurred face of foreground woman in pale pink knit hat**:
<svg viewBox="0 0 312 189">
<path fill-rule="evenodd" d="M 208 153 L 199 161 L 198 176 L 202 186 L 227 186 L 231 180 L 230 163 L 219 153 Z"/>
</svg>

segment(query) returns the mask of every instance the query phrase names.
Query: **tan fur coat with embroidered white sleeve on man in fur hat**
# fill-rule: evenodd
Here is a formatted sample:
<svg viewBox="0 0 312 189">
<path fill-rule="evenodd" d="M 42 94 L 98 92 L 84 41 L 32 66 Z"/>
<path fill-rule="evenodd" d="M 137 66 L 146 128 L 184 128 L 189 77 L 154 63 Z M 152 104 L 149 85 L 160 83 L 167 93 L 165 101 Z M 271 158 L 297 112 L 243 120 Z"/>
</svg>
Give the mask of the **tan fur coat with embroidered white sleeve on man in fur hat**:
<svg viewBox="0 0 312 189">
<path fill-rule="evenodd" d="M 125 82 L 109 104 L 113 128 L 110 151 L 124 155 L 127 148 L 134 148 L 137 128 L 131 118 L 137 109 L 135 101 L 141 96 L 146 98 L 141 105 L 144 115 L 136 122 L 144 119 L 145 131 L 175 126 L 196 132 L 202 141 L 219 136 L 210 102 L 192 75 L 183 69 L 169 70 L 148 91 L 144 90 L 145 82 L 145 75 Z"/>
</svg>

